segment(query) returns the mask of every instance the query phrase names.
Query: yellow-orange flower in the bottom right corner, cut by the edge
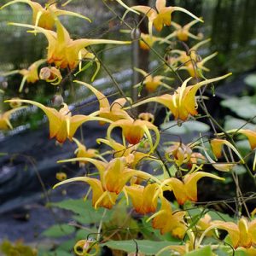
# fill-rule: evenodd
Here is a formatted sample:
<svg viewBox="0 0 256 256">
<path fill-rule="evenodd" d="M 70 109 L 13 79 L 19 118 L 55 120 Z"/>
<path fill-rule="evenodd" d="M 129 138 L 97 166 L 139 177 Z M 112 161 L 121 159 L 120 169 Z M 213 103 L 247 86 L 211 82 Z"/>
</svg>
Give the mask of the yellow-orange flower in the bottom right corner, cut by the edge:
<svg viewBox="0 0 256 256">
<path fill-rule="evenodd" d="M 207 230 L 213 228 L 226 230 L 235 249 L 237 247 L 250 248 L 252 245 L 256 245 L 256 219 L 248 222 L 247 218 L 241 218 L 238 224 L 215 220 L 212 221 L 212 227 Z"/>
</svg>

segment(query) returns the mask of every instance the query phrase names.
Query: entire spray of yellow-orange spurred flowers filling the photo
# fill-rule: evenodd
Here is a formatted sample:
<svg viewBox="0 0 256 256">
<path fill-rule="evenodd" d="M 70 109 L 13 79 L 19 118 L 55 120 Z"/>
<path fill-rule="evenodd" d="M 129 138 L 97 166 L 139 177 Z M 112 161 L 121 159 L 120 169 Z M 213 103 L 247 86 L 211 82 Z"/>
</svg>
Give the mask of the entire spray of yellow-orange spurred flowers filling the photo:
<svg viewBox="0 0 256 256">
<path fill-rule="evenodd" d="M 189 32 L 191 26 L 202 21 L 201 18 L 196 17 L 186 9 L 166 6 L 165 0 L 156 0 L 153 7 L 142 5 L 128 7 L 120 0 L 116 2 L 127 9 L 125 15 L 133 12 L 135 15 L 144 15 L 148 19 L 148 34 L 141 33 L 137 38 L 144 49 L 150 50 L 154 42 L 157 41 L 160 44 L 169 44 L 173 38 L 183 42 L 189 42 L 189 39 L 202 39 L 201 33 L 195 36 Z M 1 9 L 15 3 L 27 3 L 32 8 L 32 25 L 20 23 L 9 23 L 9 25 L 28 28 L 30 29 L 29 32 L 36 36 L 38 33 L 42 33 L 48 41 L 45 59 L 35 61 L 27 69 L 5 73 L 5 75 L 20 73 L 23 76 L 20 92 L 25 83 L 36 83 L 39 79 L 50 84 L 60 85 L 61 73 L 64 69 L 71 71 L 71 76 L 77 68 L 79 68 L 79 72 L 83 72 L 82 60 L 96 62 L 97 73 L 101 61 L 91 51 L 91 45 L 131 44 L 131 41 L 102 38 L 71 38 L 58 16 L 73 15 L 87 21 L 90 19 L 77 13 L 58 9 L 55 3 L 48 3 L 42 7 L 39 3 L 30 0 L 14 0 L 3 5 Z M 183 12 L 194 20 L 181 26 L 172 21 L 172 13 L 175 11 Z M 123 19 L 125 19 L 125 15 Z M 160 32 L 165 26 L 172 26 L 175 31 L 166 38 L 154 37 L 154 29 L 156 32 Z M 256 148 L 256 132 L 240 129 L 216 133 L 216 137 L 207 140 L 208 148 L 202 138 L 197 143 L 183 143 L 182 137 L 179 141 L 164 142 L 163 140 L 166 140 L 162 137 L 164 131 L 161 131 L 154 123 L 154 119 L 157 118 L 154 116 L 154 111 L 133 112 L 135 108 L 149 103 L 149 107 L 152 104 L 154 109 L 160 106 L 166 108 L 170 113 L 169 117 L 172 116 L 177 124 L 200 117 L 201 109 L 205 109 L 205 98 L 202 96 L 203 89 L 206 89 L 209 84 L 230 76 L 228 73 L 212 79 L 204 77 L 202 72 L 207 71 L 204 64 L 217 55 L 217 53 L 213 53 L 201 59 L 197 50 L 207 42 L 208 40 L 201 41 L 191 48 L 188 46 L 188 49 L 172 49 L 165 61 L 162 61 L 165 58 L 161 59 L 160 67 L 164 68 L 160 74 L 134 67 L 134 72 L 143 75 L 143 79 L 133 88 L 144 85 L 148 91 L 146 99 L 133 102 L 129 96 L 122 94 L 110 102 L 108 96 L 97 90 L 94 84 L 73 78 L 74 86 L 83 86 L 88 94 L 96 96 L 96 108 L 93 112 L 88 115 L 73 113 L 73 108 L 70 108 L 66 102 L 61 102 L 61 108 L 56 109 L 40 102 L 15 98 L 6 102 L 16 104 L 18 108 L 0 114 L 0 129 L 12 129 L 9 121 L 10 116 L 17 110 L 25 108 L 20 107 L 20 103 L 32 104 L 41 109 L 49 119 L 49 138 L 55 138 L 58 143 L 66 143 L 69 140 L 75 143 L 77 147 L 74 152 L 76 157 L 60 160 L 59 163 L 79 162 L 81 168 L 91 164 L 95 167 L 95 172 L 90 173 L 91 175 L 81 177 L 67 178 L 65 173 L 60 172 L 57 175 L 60 182 L 55 184 L 54 189 L 73 182 L 89 184 L 89 192 L 92 191 L 92 206 L 96 209 L 104 207 L 110 210 L 121 198 L 125 198 L 127 204 L 131 203 L 131 207 L 137 214 L 151 214 L 147 222 L 152 221 L 152 227 L 155 230 L 160 230 L 160 234 L 170 233 L 183 242 L 180 245 L 164 247 L 160 253 L 166 250 L 175 251 L 179 255 L 189 253 L 205 246 L 203 241 L 205 236 L 212 236 L 211 250 L 214 252 L 218 246 L 218 243 L 214 245 L 214 241 L 218 241 L 219 230 L 227 231 L 231 241 L 230 246 L 234 250 L 241 249 L 249 255 L 252 252 L 255 253 L 255 218 L 249 220 L 240 217 L 236 223 L 225 222 L 224 220 L 212 220 L 210 215 L 201 212 L 200 218 L 193 219 L 187 206 L 194 207 L 196 205 L 198 182 L 201 178 L 207 177 L 212 178 L 214 182 L 223 182 L 223 173 L 218 171 L 230 172 L 234 166 L 245 164 L 243 156 L 236 148 L 234 136 L 236 134 L 246 136 L 253 151 Z M 42 67 L 38 74 L 38 68 L 45 63 L 47 66 Z M 180 70 L 186 70 L 189 73 L 189 78 L 176 81 L 173 75 L 167 75 L 170 71 L 177 73 Z M 167 84 L 169 81 L 172 81 L 173 84 Z M 199 106 L 201 108 L 198 108 Z M 205 113 L 210 119 L 207 111 Z M 82 139 L 79 141 L 76 138 L 79 127 L 88 121 L 96 121 L 98 125 L 106 127 L 106 136 L 98 138 L 96 142 L 108 146 L 108 150 L 86 148 Z M 118 133 L 113 136 L 114 131 L 118 130 L 119 136 Z M 168 143 L 169 146 L 163 147 L 165 143 Z M 231 160 L 224 159 L 226 152 L 232 156 Z M 219 161 L 223 159 L 224 162 Z M 160 170 L 160 175 L 155 175 L 153 167 L 144 165 L 146 162 L 149 163 L 148 166 L 150 163 L 154 163 L 154 166 Z M 255 166 L 256 160 L 253 163 L 253 170 Z M 166 196 L 170 192 L 173 194 L 172 202 Z M 81 240 L 75 245 L 74 251 L 77 255 L 96 255 L 100 250 L 99 242 L 88 239 Z"/>
</svg>

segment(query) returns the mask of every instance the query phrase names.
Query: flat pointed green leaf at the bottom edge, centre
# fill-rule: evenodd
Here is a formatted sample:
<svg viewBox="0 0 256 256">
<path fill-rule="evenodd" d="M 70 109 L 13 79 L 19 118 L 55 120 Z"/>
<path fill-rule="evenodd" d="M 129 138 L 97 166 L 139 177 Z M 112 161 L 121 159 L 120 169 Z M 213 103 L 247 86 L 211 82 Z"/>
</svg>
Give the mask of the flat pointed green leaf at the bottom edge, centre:
<svg viewBox="0 0 256 256">
<path fill-rule="evenodd" d="M 106 243 L 102 244 L 102 246 L 105 245 L 113 249 L 125 251 L 127 253 L 135 253 L 136 248 L 138 247 L 138 250 L 140 253 L 145 253 L 147 255 L 155 255 L 164 247 L 180 244 L 180 243 L 171 242 L 171 241 L 149 241 L 149 240 L 136 240 L 136 241 L 137 241 L 137 245 L 136 245 L 136 242 L 133 240 L 107 241 Z M 161 253 L 161 256 L 165 256 L 165 255 L 169 256 L 170 252 L 166 251 L 164 253 Z"/>
</svg>

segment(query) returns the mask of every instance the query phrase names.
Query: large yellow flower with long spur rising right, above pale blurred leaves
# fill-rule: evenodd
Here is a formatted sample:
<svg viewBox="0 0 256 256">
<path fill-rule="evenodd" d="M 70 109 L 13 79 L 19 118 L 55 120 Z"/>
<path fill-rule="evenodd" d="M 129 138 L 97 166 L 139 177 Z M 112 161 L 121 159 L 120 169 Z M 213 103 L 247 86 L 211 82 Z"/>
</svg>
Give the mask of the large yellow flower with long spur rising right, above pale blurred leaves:
<svg viewBox="0 0 256 256">
<path fill-rule="evenodd" d="M 151 97 L 133 104 L 132 107 L 135 108 L 148 102 L 159 102 L 172 112 L 174 119 L 181 119 L 184 121 L 188 119 L 190 115 L 194 116 L 197 114 L 198 106 L 195 98 L 197 90 L 199 90 L 203 85 L 211 84 L 218 80 L 225 79 L 229 77 L 230 74 L 231 73 L 228 73 L 215 79 L 206 79 L 197 84 L 189 86 L 187 86 L 187 84 L 191 78 L 186 79 L 183 84 L 174 91 L 172 95 L 164 94 L 162 96 Z"/>
</svg>

